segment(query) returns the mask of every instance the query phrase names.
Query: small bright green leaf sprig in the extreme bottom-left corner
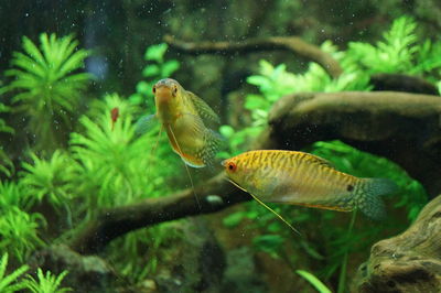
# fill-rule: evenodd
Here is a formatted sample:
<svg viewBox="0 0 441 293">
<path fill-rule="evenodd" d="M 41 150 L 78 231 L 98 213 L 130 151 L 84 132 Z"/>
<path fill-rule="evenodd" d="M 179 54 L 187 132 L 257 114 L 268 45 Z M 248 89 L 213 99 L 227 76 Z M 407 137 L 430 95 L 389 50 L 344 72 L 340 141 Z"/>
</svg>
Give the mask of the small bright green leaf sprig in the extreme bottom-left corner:
<svg viewBox="0 0 441 293">
<path fill-rule="evenodd" d="M 18 281 L 18 279 L 29 270 L 26 264 L 21 265 L 10 274 L 7 273 L 8 267 L 8 252 L 3 253 L 0 260 L 0 292 L 12 293 L 26 287 L 25 281 Z"/>
</svg>

